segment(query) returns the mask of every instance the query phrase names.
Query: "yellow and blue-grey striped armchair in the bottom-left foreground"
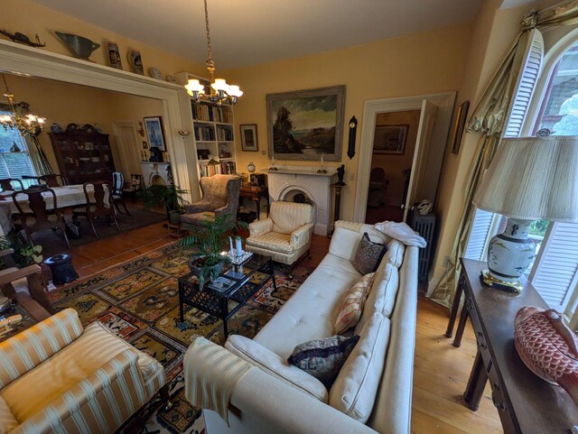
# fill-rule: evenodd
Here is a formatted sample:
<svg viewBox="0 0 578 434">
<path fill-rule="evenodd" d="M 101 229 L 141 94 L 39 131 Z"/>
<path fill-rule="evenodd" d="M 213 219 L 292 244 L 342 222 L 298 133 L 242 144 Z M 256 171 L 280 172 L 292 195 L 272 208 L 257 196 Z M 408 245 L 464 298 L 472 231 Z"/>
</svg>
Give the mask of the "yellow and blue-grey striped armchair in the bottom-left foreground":
<svg viewBox="0 0 578 434">
<path fill-rule="evenodd" d="M 163 366 L 74 309 L 0 343 L 0 432 L 103 433 L 161 391 Z"/>
</svg>

